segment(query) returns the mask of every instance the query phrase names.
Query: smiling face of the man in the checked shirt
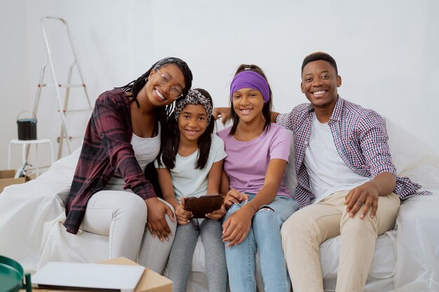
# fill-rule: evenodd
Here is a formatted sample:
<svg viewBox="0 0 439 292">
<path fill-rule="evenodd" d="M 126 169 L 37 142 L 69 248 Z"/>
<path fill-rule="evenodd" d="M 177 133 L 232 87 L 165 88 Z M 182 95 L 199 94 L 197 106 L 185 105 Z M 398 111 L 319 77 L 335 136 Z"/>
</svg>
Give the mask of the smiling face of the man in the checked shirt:
<svg viewBox="0 0 439 292">
<path fill-rule="evenodd" d="M 302 73 L 300 88 L 314 108 L 330 109 L 337 102 L 337 88 L 342 78 L 327 61 L 309 62 Z"/>
</svg>

